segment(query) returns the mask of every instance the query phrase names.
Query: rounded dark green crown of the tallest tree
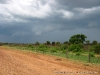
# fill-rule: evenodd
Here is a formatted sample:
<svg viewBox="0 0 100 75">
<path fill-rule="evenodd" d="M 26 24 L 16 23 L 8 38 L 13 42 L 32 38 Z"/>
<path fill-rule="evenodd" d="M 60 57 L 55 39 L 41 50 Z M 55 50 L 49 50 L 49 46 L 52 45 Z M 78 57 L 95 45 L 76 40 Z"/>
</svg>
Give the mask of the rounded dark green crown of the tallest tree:
<svg viewBox="0 0 100 75">
<path fill-rule="evenodd" d="M 84 34 L 76 34 L 70 37 L 69 42 L 71 44 L 79 44 L 84 43 L 85 38 L 87 38 Z"/>
</svg>

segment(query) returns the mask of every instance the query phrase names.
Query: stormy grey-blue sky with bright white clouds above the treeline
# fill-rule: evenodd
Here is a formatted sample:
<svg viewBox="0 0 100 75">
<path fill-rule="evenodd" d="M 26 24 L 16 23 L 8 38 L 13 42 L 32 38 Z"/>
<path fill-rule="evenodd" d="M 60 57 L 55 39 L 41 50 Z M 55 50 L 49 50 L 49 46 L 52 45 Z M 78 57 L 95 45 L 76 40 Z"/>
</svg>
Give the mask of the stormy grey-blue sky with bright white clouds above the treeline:
<svg viewBox="0 0 100 75">
<path fill-rule="evenodd" d="M 100 0 L 0 0 L 0 42 L 100 42 Z"/>
</svg>

